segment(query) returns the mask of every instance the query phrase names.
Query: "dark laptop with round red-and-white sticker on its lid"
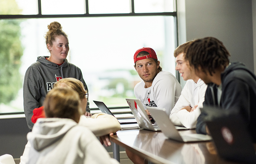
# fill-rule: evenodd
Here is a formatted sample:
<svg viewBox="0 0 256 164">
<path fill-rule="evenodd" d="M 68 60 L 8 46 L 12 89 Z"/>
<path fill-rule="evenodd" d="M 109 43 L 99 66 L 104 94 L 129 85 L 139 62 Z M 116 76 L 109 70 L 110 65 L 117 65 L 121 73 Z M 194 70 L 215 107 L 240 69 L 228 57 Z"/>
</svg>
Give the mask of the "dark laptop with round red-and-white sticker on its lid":
<svg viewBox="0 0 256 164">
<path fill-rule="evenodd" d="M 238 110 L 204 106 L 206 125 L 220 157 L 242 163 L 256 163 L 252 137 Z"/>
</svg>

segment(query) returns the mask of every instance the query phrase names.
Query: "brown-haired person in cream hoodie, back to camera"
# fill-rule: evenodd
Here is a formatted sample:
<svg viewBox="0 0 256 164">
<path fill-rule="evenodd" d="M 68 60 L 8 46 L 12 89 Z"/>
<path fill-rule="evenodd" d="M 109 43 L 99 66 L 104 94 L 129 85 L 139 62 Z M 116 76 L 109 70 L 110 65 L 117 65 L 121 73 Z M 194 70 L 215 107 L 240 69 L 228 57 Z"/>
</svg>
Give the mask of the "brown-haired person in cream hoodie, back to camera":
<svg viewBox="0 0 256 164">
<path fill-rule="evenodd" d="M 45 97 L 46 118 L 38 118 L 24 163 L 33 164 L 117 164 L 95 135 L 77 124 L 82 108 L 78 93 L 69 88 L 54 88 Z"/>
</svg>

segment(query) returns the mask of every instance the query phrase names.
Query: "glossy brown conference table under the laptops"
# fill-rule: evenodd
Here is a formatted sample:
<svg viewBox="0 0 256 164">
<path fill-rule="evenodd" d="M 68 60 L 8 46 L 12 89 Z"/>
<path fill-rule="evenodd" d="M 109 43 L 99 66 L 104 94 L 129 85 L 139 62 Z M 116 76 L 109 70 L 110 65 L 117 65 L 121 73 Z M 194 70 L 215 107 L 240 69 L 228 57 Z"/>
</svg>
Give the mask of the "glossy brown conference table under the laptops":
<svg viewBox="0 0 256 164">
<path fill-rule="evenodd" d="M 196 133 L 181 130 L 181 134 Z M 119 146 L 155 164 L 235 164 L 220 158 L 212 141 L 182 143 L 168 139 L 162 132 L 143 129 L 120 130 L 110 137 L 114 158 L 120 161 Z"/>
</svg>

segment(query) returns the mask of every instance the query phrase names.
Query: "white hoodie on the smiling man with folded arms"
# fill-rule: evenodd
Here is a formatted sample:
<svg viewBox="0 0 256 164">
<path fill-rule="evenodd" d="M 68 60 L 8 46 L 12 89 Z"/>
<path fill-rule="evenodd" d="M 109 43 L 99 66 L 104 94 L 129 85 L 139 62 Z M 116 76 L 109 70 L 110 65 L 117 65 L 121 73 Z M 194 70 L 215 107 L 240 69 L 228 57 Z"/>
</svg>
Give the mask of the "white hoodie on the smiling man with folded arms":
<svg viewBox="0 0 256 164">
<path fill-rule="evenodd" d="M 197 118 L 201 113 L 199 108 L 203 107 L 206 88 L 207 85 L 201 79 L 199 79 L 197 83 L 193 80 L 188 80 L 186 82 L 180 98 L 170 114 L 170 120 L 175 125 L 185 126 L 189 129 L 196 127 Z M 198 105 L 198 107 L 192 112 L 182 109 L 186 106 L 191 106 L 193 108 L 195 105 Z"/>
</svg>

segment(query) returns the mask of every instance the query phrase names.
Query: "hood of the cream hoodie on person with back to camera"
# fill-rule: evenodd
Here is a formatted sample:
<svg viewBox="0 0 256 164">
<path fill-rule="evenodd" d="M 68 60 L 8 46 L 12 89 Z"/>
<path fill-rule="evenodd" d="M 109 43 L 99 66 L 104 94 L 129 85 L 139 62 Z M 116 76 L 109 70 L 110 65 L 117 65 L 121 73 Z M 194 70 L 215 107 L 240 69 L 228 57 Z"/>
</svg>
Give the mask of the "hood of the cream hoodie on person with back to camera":
<svg viewBox="0 0 256 164">
<path fill-rule="evenodd" d="M 69 118 L 38 118 L 28 141 L 35 150 L 40 151 L 57 142 L 77 123 Z"/>
</svg>

